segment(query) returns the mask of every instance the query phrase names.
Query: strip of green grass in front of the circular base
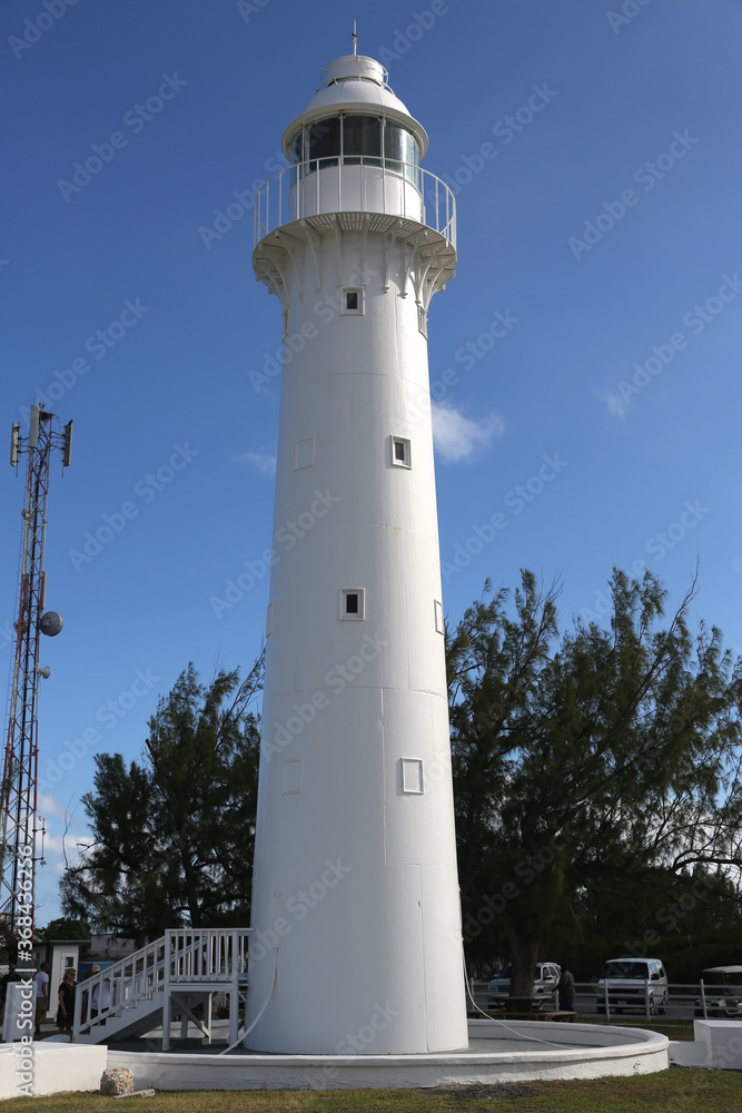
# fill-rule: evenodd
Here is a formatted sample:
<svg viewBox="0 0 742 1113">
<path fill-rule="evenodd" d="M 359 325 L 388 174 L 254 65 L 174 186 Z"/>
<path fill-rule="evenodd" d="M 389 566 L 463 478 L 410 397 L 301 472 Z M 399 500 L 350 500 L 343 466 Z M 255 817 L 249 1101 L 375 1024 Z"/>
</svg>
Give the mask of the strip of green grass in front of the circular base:
<svg viewBox="0 0 742 1113">
<path fill-rule="evenodd" d="M 133 1103 L 133 1104 L 132 1104 Z M 100 1094 L 13 1097 L 2 1113 L 117 1113 Z M 674 1067 L 633 1078 L 435 1090 L 204 1091 L 128 1099 L 141 1113 L 740 1113 L 742 1073 Z"/>
</svg>

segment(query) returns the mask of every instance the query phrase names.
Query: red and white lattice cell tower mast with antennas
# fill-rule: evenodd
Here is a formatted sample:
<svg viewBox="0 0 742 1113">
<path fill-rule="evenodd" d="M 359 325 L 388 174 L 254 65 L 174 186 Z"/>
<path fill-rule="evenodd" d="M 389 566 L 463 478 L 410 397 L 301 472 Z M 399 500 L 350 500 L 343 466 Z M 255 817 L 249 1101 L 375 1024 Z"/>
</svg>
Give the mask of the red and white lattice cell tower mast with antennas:
<svg viewBox="0 0 742 1113">
<path fill-rule="evenodd" d="M 0 926 L 7 939 L 20 927 L 33 928 L 37 855 L 37 784 L 39 762 L 39 681 L 48 669 L 39 668 L 41 634 L 57 634 L 62 619 L 56 611 L 42 613 L 46 594 L 43 570 L 47 501 L 52 449 L 62 452 L 62 470 L 69 464 L 72 422 L 61 433 L 53 430 L 53 414 L 31 406 L 27 437 L 13 424 L 10 463 L 28 455 L 26 503 L 14 622 L 16 654 L 10 687 L 8 740 L 2 774 L 2 837 L 0 840 Z"/>
</svg>

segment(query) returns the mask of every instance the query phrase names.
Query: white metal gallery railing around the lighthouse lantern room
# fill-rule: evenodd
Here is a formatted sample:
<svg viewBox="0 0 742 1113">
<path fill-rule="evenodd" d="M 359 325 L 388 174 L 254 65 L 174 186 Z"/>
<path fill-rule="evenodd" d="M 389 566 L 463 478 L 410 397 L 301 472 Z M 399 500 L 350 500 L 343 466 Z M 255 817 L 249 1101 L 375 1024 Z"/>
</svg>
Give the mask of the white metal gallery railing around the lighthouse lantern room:
<svg viewBox="0 0 742 1113">
<path fill-rule="evenodd" d="M 255 198 L 255 245 L 293 220 L 323 213 L 382 213 L 433 228 L 456 246 L 456 201 L 422 166 L 362 155 L 284 167 Z"/>
</svg>

